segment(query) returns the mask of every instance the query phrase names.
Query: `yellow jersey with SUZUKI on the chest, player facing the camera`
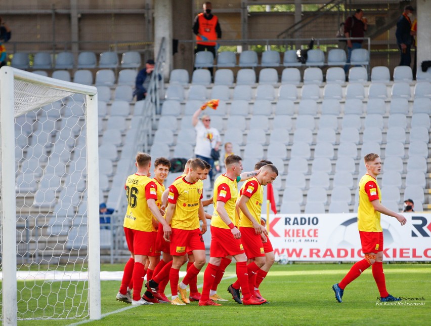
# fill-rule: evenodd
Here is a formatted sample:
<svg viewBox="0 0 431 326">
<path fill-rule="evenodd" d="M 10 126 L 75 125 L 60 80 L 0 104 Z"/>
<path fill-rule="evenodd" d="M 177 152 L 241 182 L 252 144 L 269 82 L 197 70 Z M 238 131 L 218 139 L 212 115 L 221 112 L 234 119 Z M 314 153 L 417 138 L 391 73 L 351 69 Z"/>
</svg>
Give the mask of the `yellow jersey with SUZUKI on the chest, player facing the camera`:
<svg viewBox="0 0 431 326">
<path fill-rule="evenodd" d="M 199 180 L 200 181 L 200 180 Z M 170 226 L 175 229 L 195 230 L 199 228 L 199 200 L 202 199 L 202 182 L 189 183 L 185 177 L 169 186 L 167 201 L 176 205 Z"/>
</svg>

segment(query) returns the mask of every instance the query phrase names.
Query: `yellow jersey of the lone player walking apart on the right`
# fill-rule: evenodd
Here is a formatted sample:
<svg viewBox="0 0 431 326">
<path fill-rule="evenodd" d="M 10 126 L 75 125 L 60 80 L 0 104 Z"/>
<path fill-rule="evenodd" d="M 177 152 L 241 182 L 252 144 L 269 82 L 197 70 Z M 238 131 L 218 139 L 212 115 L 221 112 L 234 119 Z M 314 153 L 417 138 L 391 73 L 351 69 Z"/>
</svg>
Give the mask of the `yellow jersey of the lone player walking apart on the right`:
<svg viewBox="0 0 431 326">
<path fill-rule="evenodd" d="M 381 202 L 380 188 L 377 180 L 369 174 L 359 181 L 358 230 L 365 232 L 382 232 L 380 212 L 374 210 L 373 200 Z"/>
</svg>

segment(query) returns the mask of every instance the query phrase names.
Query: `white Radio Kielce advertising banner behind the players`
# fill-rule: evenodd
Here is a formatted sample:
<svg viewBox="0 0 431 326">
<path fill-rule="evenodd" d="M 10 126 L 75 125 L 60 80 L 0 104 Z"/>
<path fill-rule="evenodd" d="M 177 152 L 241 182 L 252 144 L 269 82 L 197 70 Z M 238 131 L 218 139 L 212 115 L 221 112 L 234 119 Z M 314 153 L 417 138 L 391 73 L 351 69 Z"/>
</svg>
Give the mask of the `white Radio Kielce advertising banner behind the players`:
<svg viewBox="0 0 431 326">
<path fill-rule="evenodd" d="M 431 261 L 431 214 L 381 215 L 384 261 Z M 264 216 L 263 216 L 264 217 Z M 357 214 L 270 215 L 276 261 L 357 261 L 364 257 Z"/>
</svg>

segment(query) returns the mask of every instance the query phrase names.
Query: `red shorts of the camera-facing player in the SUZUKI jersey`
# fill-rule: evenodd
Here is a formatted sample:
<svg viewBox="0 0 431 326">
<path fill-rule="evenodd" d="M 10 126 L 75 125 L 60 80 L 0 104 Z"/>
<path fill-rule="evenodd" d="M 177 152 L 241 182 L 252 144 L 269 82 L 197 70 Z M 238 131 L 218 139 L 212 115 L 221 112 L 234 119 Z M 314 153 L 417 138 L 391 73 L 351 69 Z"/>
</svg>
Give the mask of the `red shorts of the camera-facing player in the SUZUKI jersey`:
<svg viewBox="0 0 431 326">
<path fill-rule="evenodd" d="M 170 237 L 170 254 L 184 256 L 187 252 L 193 250 L 205 250 L 205 243 L 200 229 L 182 230 L 173 228 Z"/>
</svg>

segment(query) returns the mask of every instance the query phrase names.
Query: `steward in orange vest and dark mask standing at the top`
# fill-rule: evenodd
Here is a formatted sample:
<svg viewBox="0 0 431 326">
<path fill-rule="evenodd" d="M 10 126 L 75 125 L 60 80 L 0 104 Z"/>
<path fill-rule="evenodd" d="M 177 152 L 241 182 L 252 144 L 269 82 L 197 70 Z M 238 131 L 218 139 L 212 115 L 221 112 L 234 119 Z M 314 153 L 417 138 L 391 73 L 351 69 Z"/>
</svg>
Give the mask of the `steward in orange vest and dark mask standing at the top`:
<svg viewBox="0 0 431 326">
<path fill-rule="evenodd" d="M 212 5 L 209 1 L 203 4 L 203 13 L 196 16 L 193 33 L 196 35 L 195 54 L 199 51 L 209 51 L 215 58 L 216 39 L 222 38 L 219 19 L 211 14 Z M 208 42 L 209 40 L 209 42 Z M 212 76 L 212 68 L 208 68 Z"/>
</svg>

